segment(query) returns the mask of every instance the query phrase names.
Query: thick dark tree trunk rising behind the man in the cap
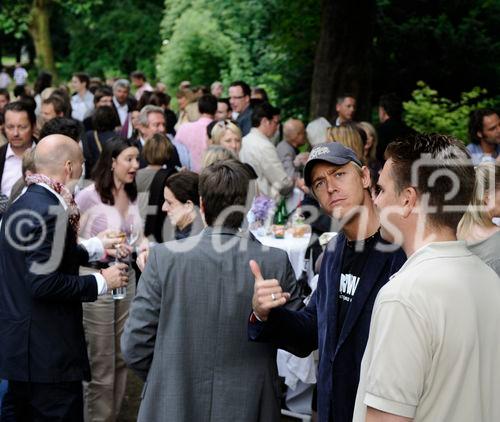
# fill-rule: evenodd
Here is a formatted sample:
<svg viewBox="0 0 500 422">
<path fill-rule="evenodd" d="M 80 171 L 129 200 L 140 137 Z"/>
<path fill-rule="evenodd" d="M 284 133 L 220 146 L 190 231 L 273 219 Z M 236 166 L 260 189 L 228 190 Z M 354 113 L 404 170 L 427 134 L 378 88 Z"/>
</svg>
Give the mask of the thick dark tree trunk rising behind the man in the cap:
<svg viewBox="0 0 500 422">
<path fill-rule="evenodd" d="M 336 116 L 337 96 L 357 99 L 356 120 L 369 119 L 375 0 L 322 0 L 314 60 L 311 117 Z"/>
</svg>

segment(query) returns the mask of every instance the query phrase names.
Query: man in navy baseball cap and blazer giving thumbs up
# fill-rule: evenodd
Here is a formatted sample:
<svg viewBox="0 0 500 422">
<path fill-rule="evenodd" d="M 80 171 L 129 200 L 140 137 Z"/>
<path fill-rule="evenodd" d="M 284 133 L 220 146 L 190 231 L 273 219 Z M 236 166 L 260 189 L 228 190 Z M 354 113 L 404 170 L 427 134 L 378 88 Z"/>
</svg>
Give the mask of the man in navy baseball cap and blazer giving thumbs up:
<svg viewBox="0 0 500 422">
<path fill-rule="evenodd" d="M 288 294 L 280 280 L 266 280 L 251 261 L 255 293 L 248 333 L 301 357 L 318 349 L 318 421 L 350 422 L 375 297 L 406 256 L 380 237 L 370 172 L 351 149 L 338 142 L 315 146 L 304 180 L 342 230 L 328 244 L 317 290 L 300 311 L 282 307 Z"/>
</svg>

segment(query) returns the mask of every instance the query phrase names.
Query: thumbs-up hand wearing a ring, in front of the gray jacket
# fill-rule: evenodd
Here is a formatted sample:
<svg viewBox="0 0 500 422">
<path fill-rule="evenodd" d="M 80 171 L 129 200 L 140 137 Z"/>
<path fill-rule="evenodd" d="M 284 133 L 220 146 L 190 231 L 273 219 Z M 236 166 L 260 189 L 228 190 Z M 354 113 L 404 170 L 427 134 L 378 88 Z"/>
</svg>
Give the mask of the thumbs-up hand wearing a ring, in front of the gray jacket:
<svg viewBox="0 0 500 422">
<path fill-rule="evenodd" d="M 261 321 L 266 321 L 271 309 L 283 306 L 290 299 L 290 293 L 283 292 L 278 280 L 264 280 L 259 264 L 253 259 L 250 269 L 255 277 L 252 308 Z"/>
</svg>

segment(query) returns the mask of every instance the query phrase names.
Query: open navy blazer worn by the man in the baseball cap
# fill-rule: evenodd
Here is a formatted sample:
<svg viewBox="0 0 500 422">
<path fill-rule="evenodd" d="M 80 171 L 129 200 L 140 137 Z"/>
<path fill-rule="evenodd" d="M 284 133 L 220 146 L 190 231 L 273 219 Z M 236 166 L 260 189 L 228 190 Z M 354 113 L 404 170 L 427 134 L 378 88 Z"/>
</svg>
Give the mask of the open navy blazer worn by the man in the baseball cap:
<svg viewBox="0 0 500 422">
<path fill-rule="evenodd" d="M 379 237 L 382 244 L 387 244 Z M 271 341 L 305 357 L 319 350 L 317 375 L 318 421 L 350 422 L 359 383 L 361 359 L 368 340 L 373 304 L 378 291 L 403 265 L 401 249 L 373 249 L 365 264 L 344 326 L 337 336 L 337 304 L 346 237 L 339 233 L 325 251 L 318 287 L 301 311 L 274 309 L 266 323 L 249 323 L 251 340 Z"/>
</svg>

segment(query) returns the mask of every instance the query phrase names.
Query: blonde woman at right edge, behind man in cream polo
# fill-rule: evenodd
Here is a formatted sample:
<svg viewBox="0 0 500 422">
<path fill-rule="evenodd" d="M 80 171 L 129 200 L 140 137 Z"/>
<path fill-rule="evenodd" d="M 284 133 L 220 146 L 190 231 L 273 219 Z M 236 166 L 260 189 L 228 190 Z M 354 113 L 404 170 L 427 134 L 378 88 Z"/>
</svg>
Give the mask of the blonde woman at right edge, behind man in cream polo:
<svg viewBox="0 0 500 422">
<path fill-rule="evenodd" d="M 500 276 L 500 163 L 484 162 L 476 168 L 474 197 L 458 224 L 457 238 Z"/>
</svg>

